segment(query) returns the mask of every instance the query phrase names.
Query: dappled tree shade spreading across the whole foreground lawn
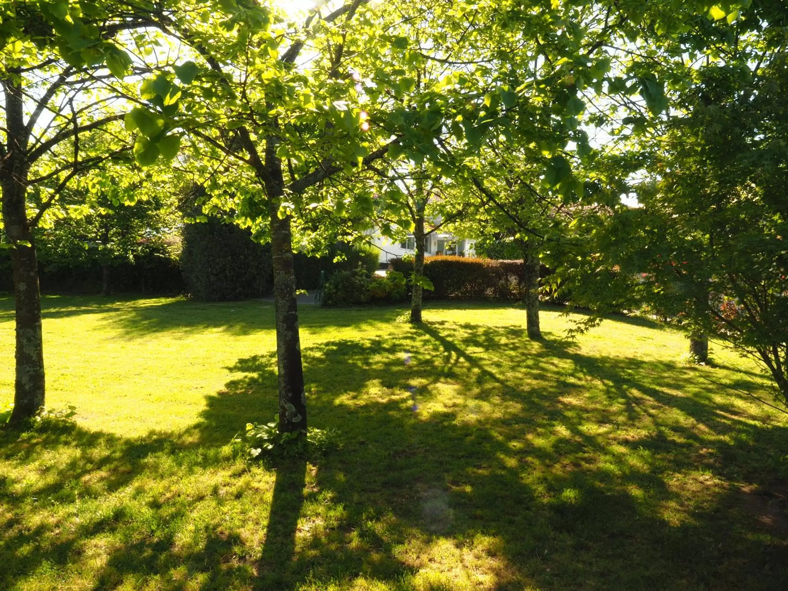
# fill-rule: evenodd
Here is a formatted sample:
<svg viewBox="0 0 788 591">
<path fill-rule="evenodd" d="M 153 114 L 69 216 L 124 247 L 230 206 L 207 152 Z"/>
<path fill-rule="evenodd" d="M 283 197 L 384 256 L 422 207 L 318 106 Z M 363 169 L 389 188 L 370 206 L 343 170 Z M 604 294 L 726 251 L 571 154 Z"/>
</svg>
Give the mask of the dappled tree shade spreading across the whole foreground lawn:
<svg viewBox="0 0 788 591">
<path fill-rule="evenodd" d="M 696 370 L 452 322 L 303 355 L 310 424 L 345 445 L 273 482 L 219 447 L 276 412 L 268 355 L 174 439 L 0 438 L 36 475 L 0 478 L 0 588 L 94 560 L 95 589 L 786 587 L 782 530 L 741 489 L 784 483 L 788 431 Z"/>
</svg>

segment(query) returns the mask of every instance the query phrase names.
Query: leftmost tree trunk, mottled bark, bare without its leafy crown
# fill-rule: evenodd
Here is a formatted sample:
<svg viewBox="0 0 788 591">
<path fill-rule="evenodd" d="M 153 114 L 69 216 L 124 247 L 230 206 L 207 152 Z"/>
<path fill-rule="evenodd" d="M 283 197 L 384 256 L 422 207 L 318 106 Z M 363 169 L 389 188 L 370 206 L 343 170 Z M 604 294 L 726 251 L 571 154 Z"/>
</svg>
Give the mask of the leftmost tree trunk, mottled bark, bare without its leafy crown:
<svg viewBox="0 0 788 591">
<path fill-rule="evenodd" d="M 29 131 L 24 125 L 21 89 L 3 80 L 6 91 L 6 155 L 0 159 L 2 217 L 12 244 L 13 292 L 16 302 L 16 381 L 11 423 L 32 418 L 45 394 L 41 296 L 35 240 L 28 223 L 25 194 L 28 185 L 26 151 Z"/>
</svg>

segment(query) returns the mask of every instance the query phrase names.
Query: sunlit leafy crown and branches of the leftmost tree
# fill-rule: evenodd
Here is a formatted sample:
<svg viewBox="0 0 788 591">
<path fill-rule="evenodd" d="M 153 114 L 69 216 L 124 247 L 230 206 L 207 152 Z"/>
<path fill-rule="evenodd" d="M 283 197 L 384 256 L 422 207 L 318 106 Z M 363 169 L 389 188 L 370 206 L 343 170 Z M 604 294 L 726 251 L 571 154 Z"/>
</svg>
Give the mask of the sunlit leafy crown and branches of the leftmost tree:
<svg viewBox="0 0 788 591">
<path fill-rule="evenodd" d="M 129 139 L 118 121 L 129 110 L 126 98 L 136 94 L 134 84 L 124 81 L 131 73 L 129 54 L 143 54 L 154 43 L 145 35 L 135 37 L 136 46 L 129 43 L 129 32 L 143 21 L 116 2 L 2 2 L 0 80 L 6 100 L 0 107 L 5 119 L 0 155 L 24 160 L 32 225 L 58 206 L 61 194 L 86 170 L 111 168 L 121 185 L 128 184 L 127 170 L 134 177 L 126 153 Z M 24 128 L 9 102 L 17 92 L 13 89 L 20 93 Z M 161 124 L 140 110 L 131 114 L 151 136 Z M 172 140 L 167 145 L 164 151 L 172 157 Z M 54 217 L 46 215 L 68 214 L 61 207 Z"/>
</svg>

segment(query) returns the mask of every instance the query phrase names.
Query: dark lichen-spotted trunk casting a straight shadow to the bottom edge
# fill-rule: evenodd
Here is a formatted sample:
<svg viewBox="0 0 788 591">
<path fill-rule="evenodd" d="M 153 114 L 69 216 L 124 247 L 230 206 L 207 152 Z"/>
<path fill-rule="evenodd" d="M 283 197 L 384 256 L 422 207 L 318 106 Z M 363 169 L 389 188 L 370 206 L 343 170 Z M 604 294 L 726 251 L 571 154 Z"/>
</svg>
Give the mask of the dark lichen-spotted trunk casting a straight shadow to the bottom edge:
<svg viewBox="0 0 788 591">
<path fill-rule="evenodd" d="M 277 369 L 279 374 L 279 430 L 306 431 L 307 396 L 303 384 L 301 342 L 296 303 L 296 274 L 293 271 L 291 217 L 279 217 L 284 177 L 278 141 L 266 141 L 266 194 L 271 224 L 273 257 L 273 302 L 277 324 Z"/>
</svg>

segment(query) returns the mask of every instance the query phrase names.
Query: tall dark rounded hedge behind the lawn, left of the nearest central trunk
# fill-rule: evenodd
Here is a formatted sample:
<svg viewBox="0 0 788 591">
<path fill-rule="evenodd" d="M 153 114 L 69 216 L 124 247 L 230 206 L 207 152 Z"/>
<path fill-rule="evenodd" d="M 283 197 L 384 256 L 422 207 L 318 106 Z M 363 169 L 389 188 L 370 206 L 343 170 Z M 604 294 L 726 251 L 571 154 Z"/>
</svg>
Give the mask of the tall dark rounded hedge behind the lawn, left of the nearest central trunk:
<svg viewBox="0 0 788 591">
<path fill-rule="evenodd" d="M 180 269 L 188 293 L 208 302 L 258 298 L 273 288 L 270 248 L 214 217 L 184 226 Z"/>
</svg>

